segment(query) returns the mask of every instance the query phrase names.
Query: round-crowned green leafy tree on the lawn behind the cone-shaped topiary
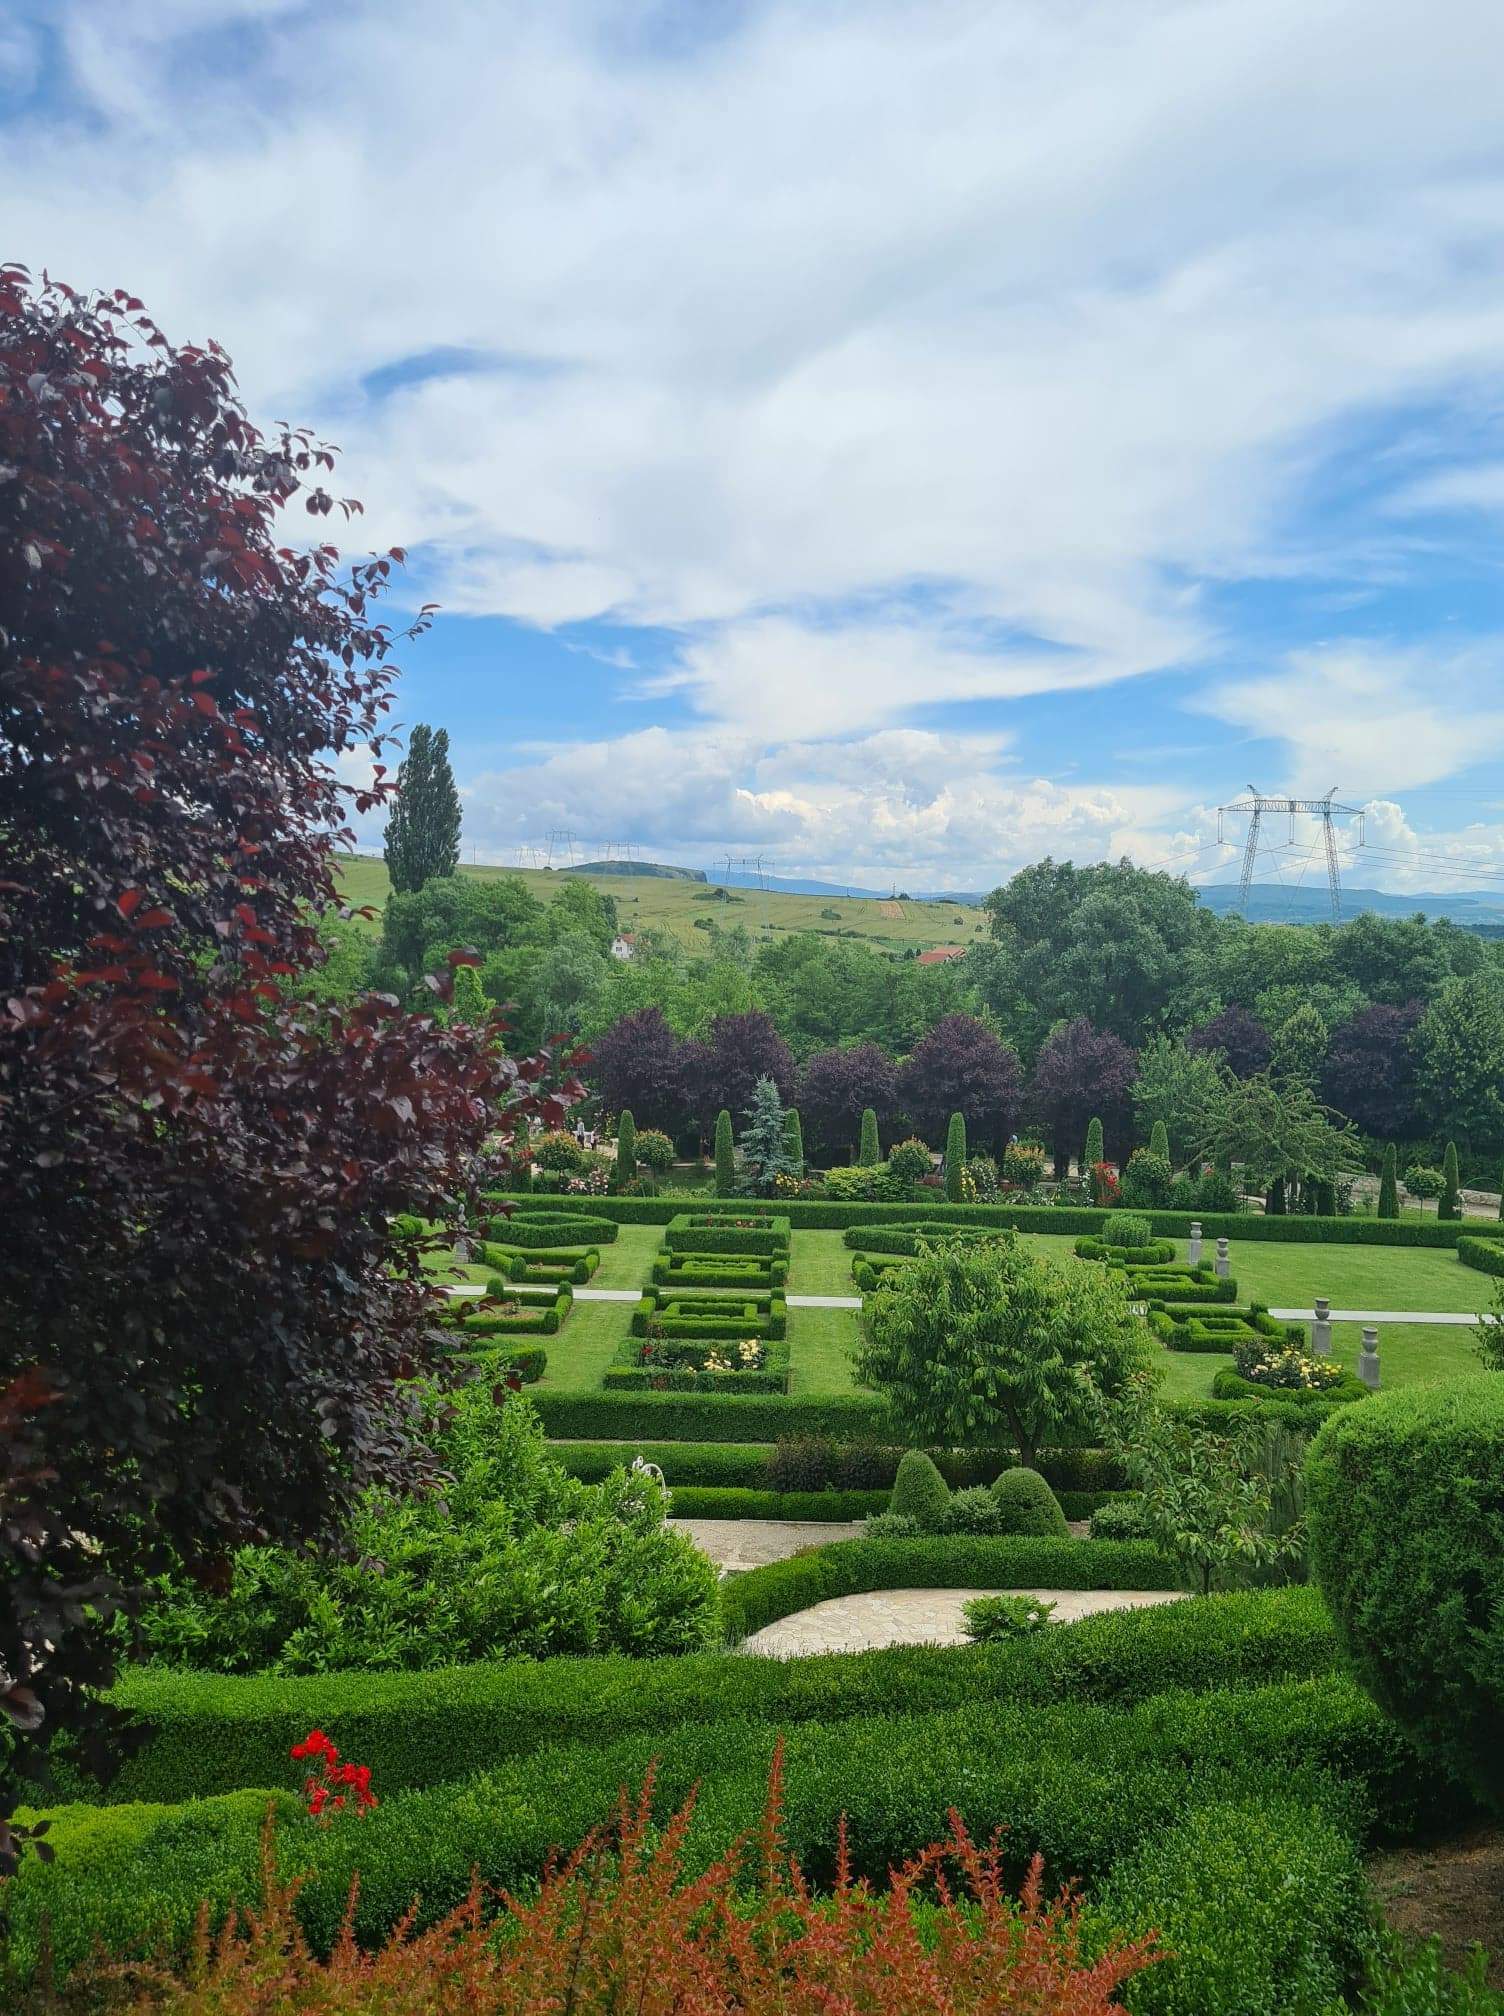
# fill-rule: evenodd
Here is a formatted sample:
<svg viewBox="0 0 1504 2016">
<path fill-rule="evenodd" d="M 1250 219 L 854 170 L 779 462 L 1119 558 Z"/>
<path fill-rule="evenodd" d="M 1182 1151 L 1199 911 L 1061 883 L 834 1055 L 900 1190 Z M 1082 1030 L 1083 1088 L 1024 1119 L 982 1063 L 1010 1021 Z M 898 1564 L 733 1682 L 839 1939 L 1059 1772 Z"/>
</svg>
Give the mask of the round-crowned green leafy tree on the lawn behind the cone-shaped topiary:
<svg viewBox="0 0 1504 2016">
<path fill-rule="evenodd" d="M 1147 1353 L 1107 1268 L 1054 1266 L 1000 1232 L 903 1266 L 869 1302 L 857 1373 L 913 1441 L 1010 1441 L 1034 1470 L 1042 1447 L 1101 1425 Z"/>
</svg>

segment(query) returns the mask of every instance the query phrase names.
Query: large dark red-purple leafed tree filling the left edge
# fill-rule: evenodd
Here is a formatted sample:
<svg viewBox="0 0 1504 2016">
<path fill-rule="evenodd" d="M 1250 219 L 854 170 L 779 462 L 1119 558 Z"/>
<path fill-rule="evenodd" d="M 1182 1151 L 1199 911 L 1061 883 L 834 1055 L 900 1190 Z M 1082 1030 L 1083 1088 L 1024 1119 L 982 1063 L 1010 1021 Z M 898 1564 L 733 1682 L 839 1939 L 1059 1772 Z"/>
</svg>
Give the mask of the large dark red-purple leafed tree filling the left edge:
<svg viewBox="0 0 1504 2016">
<path fill-rule="evenodd" d="M 83 1689 L 145 1577 L 421 1470 L 435 1298 L 389 1220 L 464 1193 L 508 1091 L 569 1097 L 391 998 L 298 1002 L 333 758 L 377 758 L 361 810 L 389 788 L 401 554 L 280 544 L 329 468 L 216 345 L 0 268 L 0 1389 L 34 1399 L 0 1423 L 0 1869 L 52 1734 L 105 1760 Z"/>
</svg>

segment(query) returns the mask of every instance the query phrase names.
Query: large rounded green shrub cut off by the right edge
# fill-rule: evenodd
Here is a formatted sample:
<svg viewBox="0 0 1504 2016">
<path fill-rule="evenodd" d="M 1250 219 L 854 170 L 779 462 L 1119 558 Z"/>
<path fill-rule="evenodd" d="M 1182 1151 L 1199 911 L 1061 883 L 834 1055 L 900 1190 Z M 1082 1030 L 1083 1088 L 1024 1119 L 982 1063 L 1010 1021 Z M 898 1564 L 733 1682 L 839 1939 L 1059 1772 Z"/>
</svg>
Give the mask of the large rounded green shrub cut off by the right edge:
<svg viewBox="0 0 1504 2016">
<path fill-rule="evenodd" d="M 1306 1458 L 1306 1516 L 1363 1685 L 1504 1810 L 1504 1379 L 1343 1407 Z"/>
</svg>

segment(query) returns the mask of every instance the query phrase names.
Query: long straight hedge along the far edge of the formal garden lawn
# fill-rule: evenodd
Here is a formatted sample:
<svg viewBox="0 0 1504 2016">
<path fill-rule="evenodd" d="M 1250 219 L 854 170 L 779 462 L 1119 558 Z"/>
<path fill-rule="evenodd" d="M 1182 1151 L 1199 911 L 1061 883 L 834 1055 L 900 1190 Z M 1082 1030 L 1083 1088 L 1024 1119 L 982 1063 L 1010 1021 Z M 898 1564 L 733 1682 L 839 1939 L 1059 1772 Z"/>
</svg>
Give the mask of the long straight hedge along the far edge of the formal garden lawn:
<svg viewBox="0 0 1504 2016">
<path fill-rule="evenodd" d="M 490 1202 L 510 1202 L 502 1191 L 490 1193 Z M 530 1212 L 546 1212 L 548 1198 L 518 1198 Z M 556 1200 L 558 1210 L 573 1210 L 571 1198 Z M 667 1226 L 683 1212 L 679 1198 L 593 1198 L 591 1210 L 611 1218 L 619 1226 Z M 732 1204 L 710 1202 L 706 1216 L 730 1212 L 738 1218 L 768 1216 L 776 1210 L 796 1232 L 845 1232 L 861 1226 L 891 1224 L 958 1224 L 958 1226 L 1016 1226 L 1018 1232 L 1046 1232 L 1064 1238 L 1079 1238 L 1083 1232 L 1099 1236 L 1109 1212 L 1095 1206 L 1032 1206 L 1032 1204 L 827 1204 L 814 1198 L 778 1198 L 764 1204 L 756 1198 Z M 1319 1246 L 1456 1246 L 1458 1224 L 1435 1218 L 1389 1220 L 1389 1218 L 1262 1218 L 1258 1212 L 1145 1212 L 1155 1238 L 1187 1240 L 1192 1222 L 1202 1226 L 1208 1240 L 1276 1240 L 1284 1244 Z M 1466 1220 L 1464 1220 L 1466 1224 Z M 498 1234 L 506 1238 L 506 1234 Z M 516 1244 L 516 1242 L 514 1242 Z M 597 1242 L 599 1244 L 599 1242 Z M 855 1246 L 865 1240 L 849 1242 Z"/>
</svg>

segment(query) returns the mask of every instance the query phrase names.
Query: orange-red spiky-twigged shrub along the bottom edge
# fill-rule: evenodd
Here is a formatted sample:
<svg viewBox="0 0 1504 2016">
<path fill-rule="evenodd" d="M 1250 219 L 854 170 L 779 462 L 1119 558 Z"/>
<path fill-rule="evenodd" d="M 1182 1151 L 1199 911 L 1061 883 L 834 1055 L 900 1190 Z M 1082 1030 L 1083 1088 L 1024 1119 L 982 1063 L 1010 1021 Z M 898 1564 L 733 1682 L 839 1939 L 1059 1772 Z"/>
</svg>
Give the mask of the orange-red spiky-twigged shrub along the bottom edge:
<svg viewBox="0 0 1504 2016">
<path fill-rule="evenodd" d="M 893 1873 L 887 1891 L 853 1883 L 845 1841 L 835 1893 L 808 1891 L 780 1833 L 774 1756 L 756 1841 L 700 1877 L 683 1873 L 694 1796 L 657 1833 L 651 1774 L 615 1826 L 544 1873 L 534 1899 L 470 1899 L 379 1951 L 345 1931 L 319 1960 L 298 1929 L 296 1881 L 278 1883 L 270 1818 L 264 1903 L 218 1937 L 200 1925 L 175 1978 L 117 1974 L 129 2010 L 177 2016 L 1111 2016 L 1113 1992 L 1159 1949 L 1153 1937 L 1087 1958 L 1071 1891 L 1040 1893 L 1034 1859 L 1018 1897 L 996 1847 L 976 1847 L 958 1814 L 950 1841 Z M 927 1907 L 915 1915 L 915 1895 Z M 105 1982 L 99 1982 L 105 1986 Z M 121 2006 L 121 2004 L 117 2004 Z"/>
</svg>

